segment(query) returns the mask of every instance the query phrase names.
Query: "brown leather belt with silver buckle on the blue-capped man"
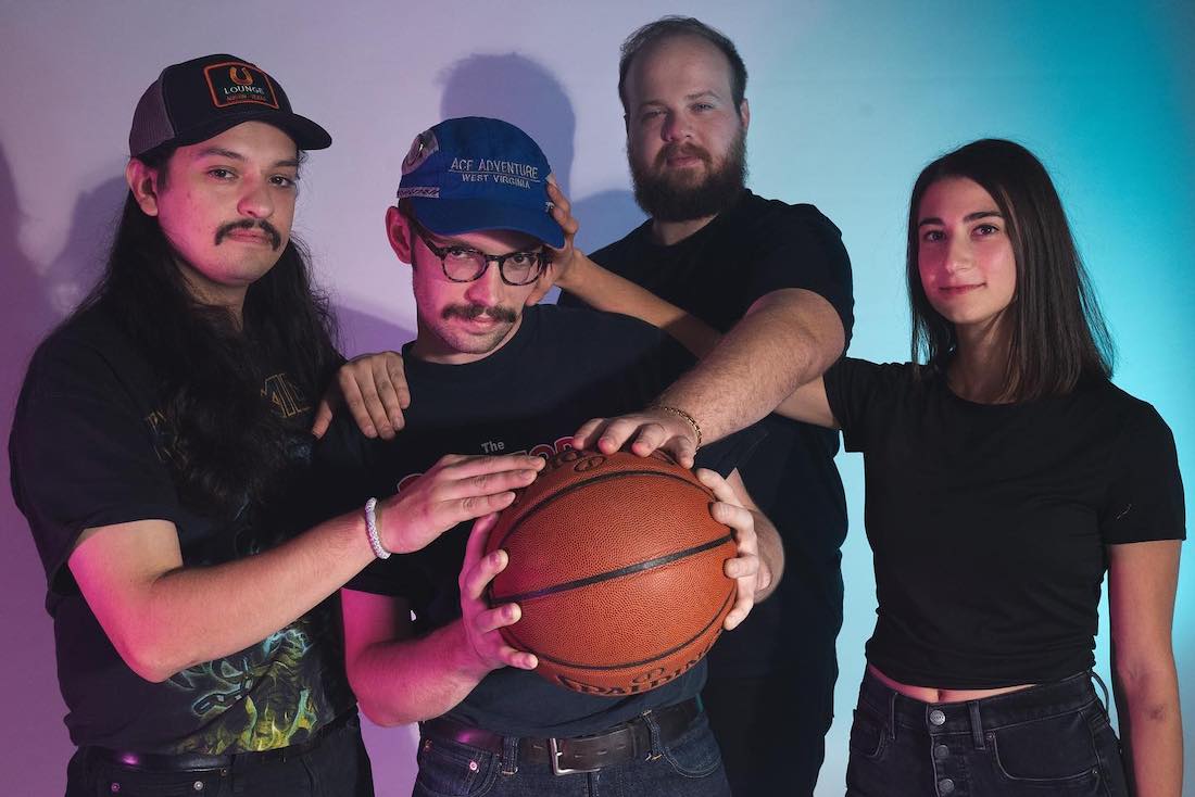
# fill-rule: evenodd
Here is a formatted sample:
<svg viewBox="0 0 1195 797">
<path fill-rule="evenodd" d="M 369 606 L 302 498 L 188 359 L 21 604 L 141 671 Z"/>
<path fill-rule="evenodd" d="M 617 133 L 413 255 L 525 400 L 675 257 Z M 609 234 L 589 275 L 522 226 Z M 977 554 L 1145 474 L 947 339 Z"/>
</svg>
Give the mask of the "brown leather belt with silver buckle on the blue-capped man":
<svg viewBox="0 0 1195 797">
<path fill-rule="evenodd" d="M 660 729 L 660 742 L 667 744 L 679 738 L 700 713 L 701 704 L 698 698 L 690 698 L 663 709 L 646 711 L 600 734 L 569 738 L 523 737 L 519 740 L 519 761 L 551 764 L 556 774 L 571 774 L 596 772 L 613 764 L 643 760 L 649 756 L 652 747 L 651 731 L 645 717 L 650 715 L 655 721 Z M 448 740 L 498 755 L 504 753 L 507 738 L 502 734 L 466 725 L 448 717 L 436 717 L 419 723 L 419 732 L 424 737 L 424 749 L 434 740 Z"/>
</svg>

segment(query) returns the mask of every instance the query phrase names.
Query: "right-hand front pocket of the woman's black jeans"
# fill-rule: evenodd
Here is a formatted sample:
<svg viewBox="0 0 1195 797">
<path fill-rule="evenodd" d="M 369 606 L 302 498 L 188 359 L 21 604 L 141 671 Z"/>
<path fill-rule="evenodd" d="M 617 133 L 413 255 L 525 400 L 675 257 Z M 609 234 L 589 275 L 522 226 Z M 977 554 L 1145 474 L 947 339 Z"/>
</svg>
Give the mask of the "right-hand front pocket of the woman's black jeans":
<svg viewBox="0 0 1195 797">
<path fill-rule="evenodd" d="M 1080 785 L 1099 778 L 1099 756 L 1081 711 L 987 732 L 997 774 L 1024 785 Z"/>
</svg>

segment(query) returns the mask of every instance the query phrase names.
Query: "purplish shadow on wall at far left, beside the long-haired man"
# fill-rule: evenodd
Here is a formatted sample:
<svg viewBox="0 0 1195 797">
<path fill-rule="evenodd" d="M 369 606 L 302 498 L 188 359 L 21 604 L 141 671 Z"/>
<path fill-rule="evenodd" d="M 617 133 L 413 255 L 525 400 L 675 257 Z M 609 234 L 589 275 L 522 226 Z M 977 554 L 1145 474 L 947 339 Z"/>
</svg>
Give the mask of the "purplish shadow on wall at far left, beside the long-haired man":
<svg viewBox="0 0 1195 797">
<path fill-rule="evenodd" d="M 5 341 L 0 347 L 0 417 L 4 439 L 12 424 L 33 348 L 78 304 L 94 281 L 128 188 L 122 178 L 80 195 L 62 252 L 49 265 L 20 249 L 24 221 L 8 160 L 0 148 L 0 296 Z M 0 638 L 7 646 L 0 683 L 19 722 L 0 724 L 0 749 L 19 752 L 22 766 L 7 773 L 13 793 L 61 793 L 73 747 L 62 724 L 65 706 L 54 668 L 53 626 L 44 609 L 45 577 L 24 516 L 7 489 L 8 458 L 0 458 Z M 14 780 L 12 780 L 14 778 Z"/>
</svg>

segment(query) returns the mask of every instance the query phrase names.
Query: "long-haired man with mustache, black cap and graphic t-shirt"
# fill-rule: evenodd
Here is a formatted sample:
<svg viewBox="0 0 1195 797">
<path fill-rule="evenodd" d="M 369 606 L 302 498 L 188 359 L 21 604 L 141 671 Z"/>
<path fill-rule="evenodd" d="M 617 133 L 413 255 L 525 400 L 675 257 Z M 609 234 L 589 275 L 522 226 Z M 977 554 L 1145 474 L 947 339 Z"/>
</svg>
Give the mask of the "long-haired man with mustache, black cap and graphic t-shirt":
<svg viewBox="0 0 1195 797">
<path fill-rule="evenodd" d="M 341 357 L 290 226 L 301 153 L 330 143 L 247 61 L 164 69 L 104 276 L 30 363 L 12 483 L 79 746 L 68 795 L 372 793 L 326 599 L 541 466 L 456 458 L 304 531 L 310 397 Z"/>
</svg>

